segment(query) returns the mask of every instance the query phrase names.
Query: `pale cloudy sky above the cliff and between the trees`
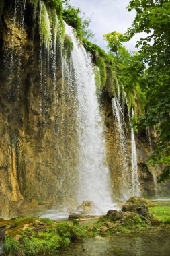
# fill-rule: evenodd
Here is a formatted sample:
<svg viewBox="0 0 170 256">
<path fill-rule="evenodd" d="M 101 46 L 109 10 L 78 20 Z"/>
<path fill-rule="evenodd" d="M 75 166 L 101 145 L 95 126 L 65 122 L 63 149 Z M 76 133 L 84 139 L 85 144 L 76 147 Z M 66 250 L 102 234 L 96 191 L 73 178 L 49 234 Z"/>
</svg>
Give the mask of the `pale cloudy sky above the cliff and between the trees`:
<svg viewBox="0 0 170 256">
<path fill-rule="evenodd" d="M 103 34 L 113 31 L 124 33 L 134 20 L 135 12 L 128 12 L 129 0 L 70 0 L 70 4 L 80 7 L 81 12 L 91 18 L 90 28 L 95 33 L 96 44 L 107 49 Z M 128 50 L 135 50 L 136 38 L 126 44 Z"/>
</svg>

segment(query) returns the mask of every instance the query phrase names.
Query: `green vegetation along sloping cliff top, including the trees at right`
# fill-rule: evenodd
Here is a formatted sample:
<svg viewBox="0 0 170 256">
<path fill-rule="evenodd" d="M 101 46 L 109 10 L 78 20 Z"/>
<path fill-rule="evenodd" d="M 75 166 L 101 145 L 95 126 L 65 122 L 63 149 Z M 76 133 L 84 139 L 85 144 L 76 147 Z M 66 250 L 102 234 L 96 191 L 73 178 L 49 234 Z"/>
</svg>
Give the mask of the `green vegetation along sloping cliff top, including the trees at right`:
<svg viewBox="0 0 170 256">
<path fill-rule="evenodd" d="M 152 0 L 149 3 L 144 0 L 130 1 L 128 11 L 136 10 L 132 26 L 124 34 L 114 31 L 104 35 L 105 40 L 108 41 L 109 54 L 87 40 L 88 35 L 93 33 L 88 30 L 89 20 L 83 26 L 79 8 L 71 7 L 67 0 L 62 1 L 66 7 L 64 10 L 60 7 L 61 1 L 46 0 L 46 3 L 55 7 L 58 13 L 62 13 L 65 22 L 75 28 L 85 49 L 92 53 L 93 61 L 100 70 L 102 85 L 100 89 L 108 91 L 106 81 L 109 75 L 108 68 L 110 68 L 114 71 L 114 75 L 117 75 L 120 84 L 124 85 L 129 108 L 134 106 L 135 98 L 138 98 L 139 113 L 142 115 L 136 118 L 134 124 L 138 129 L 154 127 L 158 134 L 155 152 L 148 163 L 153 166 L 159 163 L 164 164 L 165 168 L 158 181 L 169 179 L 169 1 Z M 136 47 L 140 47 L 138 52 L 130 53 L 122 43 L 140 32 L 145 32 L 148 36 L 136 42 Z M 114 93 L 110 93 L 114 91 L 115 88 L 108 91 L 110 97 L 115 96 Z"/>
</svg>

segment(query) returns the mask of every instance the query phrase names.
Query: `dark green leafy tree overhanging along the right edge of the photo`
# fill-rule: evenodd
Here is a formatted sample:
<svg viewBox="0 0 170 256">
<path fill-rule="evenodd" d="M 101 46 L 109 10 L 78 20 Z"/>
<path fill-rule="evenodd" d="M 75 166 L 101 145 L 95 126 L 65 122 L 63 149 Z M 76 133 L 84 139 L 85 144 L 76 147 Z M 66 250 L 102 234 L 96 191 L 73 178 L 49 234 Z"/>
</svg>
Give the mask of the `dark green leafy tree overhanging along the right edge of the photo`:
<svg viewBox="0 0 170 256">
<path fill-rule="evenodd" d="M 148 160 L 153 166 L 164 164 L 158 181 L 170 179 L 170 2 L 167 0 L 132 0 L 128 11 L 135 9 L 136 17 L 122 41 L 130 40 L 135 34 L 145 32 L 140 38 L 139 56 L 148 64 L 140 84 L 146 92 L 147 113 L 138 117 L 137 127 L 154 126 L 158 138 L 155 152 Z"/>
</svg>

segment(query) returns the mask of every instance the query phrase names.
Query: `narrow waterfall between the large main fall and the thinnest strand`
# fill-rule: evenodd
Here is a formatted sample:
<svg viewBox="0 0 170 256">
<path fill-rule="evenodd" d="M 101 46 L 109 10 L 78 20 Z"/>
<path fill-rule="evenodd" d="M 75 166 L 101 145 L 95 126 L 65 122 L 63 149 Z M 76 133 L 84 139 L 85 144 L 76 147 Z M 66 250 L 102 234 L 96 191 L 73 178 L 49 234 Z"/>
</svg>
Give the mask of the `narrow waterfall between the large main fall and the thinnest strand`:
<svg viewBox="0 0 170 256">
<path fill-rule="evenodd" d="M 119 95 L 119 94 L 118 94 Z M 119 96 L 120 98 L 120 96 Z M 126 123 L 124 121 L 124 113 L 118 98 L 112 98 L 112 110 L 113 115 L 118 123 L 118 142 L 119 152 L 118 157 L 120 158 L 120 183 L 121 183 L 121 198 L 123 200 L 130 197 L 130 170 L 128 166 L 129 157 L 127 149 L 127 138 L 126 138 Z"/>
</svg>

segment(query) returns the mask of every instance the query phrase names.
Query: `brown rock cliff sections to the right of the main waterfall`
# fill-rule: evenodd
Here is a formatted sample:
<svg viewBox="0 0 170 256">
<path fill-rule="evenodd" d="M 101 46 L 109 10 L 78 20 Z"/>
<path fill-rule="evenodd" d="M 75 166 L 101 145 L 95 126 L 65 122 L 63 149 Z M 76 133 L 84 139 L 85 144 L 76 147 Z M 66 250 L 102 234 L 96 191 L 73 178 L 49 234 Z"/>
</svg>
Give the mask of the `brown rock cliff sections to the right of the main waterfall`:
<svg viewBox="0 0 170 256">
<path fill-rule="evenodd" d="M 120 191 L 122 186 L 121 162 L 120 154 L 120 138 L 118 134 L 118 124 L 113 118 L 112 104 L 108 93 L 103 93 L 102 113 L 105 119 L 105 146 L 107 150 L 106 161 L 110 169 L 112 193 L 115 199 L 120 199 Z M 137 106 L 136 106 L 137 108 Z M 127 148 L 128 148 L 128 166 L 132 166 L 130 127 L 128 126 L 127 111 L 124 111 L 126 120 Z M 155 140 L 155 133 L 150 134 L 152 141 Z M 138 176 L 140 195 L 142 197 L 166 197 L 169 195 L 169 182 L 157 184 L 157 176 L 161 172 L 161 166 L 156 168 L 147 164 L 148 157 L 152 153 L 151 141 L 149 141 L 146 131 L 136 133 L 136 152 L 138 162 Z M 128 189 L 128 187 L 126 187 Z"/>
</svg>

